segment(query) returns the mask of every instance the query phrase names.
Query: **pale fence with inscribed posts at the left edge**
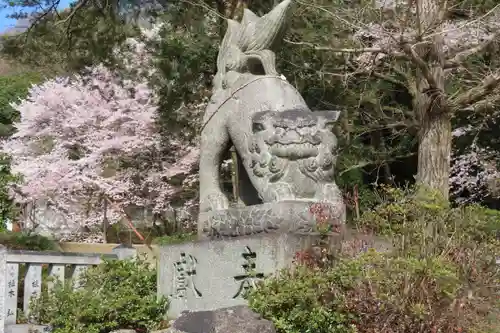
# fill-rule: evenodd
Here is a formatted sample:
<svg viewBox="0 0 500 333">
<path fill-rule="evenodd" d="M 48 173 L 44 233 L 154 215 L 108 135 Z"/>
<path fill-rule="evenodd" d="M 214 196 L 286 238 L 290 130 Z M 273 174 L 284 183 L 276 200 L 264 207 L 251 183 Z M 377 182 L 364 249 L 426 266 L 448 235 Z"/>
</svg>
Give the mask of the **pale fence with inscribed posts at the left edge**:
<svg viewBox="0 0 500 333">
<path fill-rule="evenodd" d="M 14 251 L 0 245 L 0 333 L 16 325 L 21 265 L 25 265 L 26 271 L 22 308 L 28 318 L 30 300 L 42 291 L 42 266 L 49 269 L 49 290 L 54 287 L 55 279 L 64 283 L 66 278 L 73 281 L 74 288 L 79 288 L 79 277 L 87 267 L 100 264 L 103 258 L 123 260 L 136 255 L 137 250 L 126 245 L 115 247 L 111 254 Z"/>
</svg>

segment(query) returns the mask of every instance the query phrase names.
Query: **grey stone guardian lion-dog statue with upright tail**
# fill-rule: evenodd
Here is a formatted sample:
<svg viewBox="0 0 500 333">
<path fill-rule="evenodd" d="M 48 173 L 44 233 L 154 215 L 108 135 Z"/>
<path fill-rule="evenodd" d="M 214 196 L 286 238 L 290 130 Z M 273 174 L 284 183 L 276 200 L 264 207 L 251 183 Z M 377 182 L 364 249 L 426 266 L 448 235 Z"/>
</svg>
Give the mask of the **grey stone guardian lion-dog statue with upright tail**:
<svg viewBox="0 0 500 333">
<path fill-rule="evenodd" d="M 332 133 L 339 112 L 311 112 L 276 71 L 272 49 L 290 3 L 285 0 L 262 17 L 245 9 L 241 23 L 227 20 L 201 132 L 200 220 L 207 212 L 229 209 L 220 165 L 231 144 L 241 164 L 244 204 L 323 202 L 338 208 L 343 218 Z"/>
</svg>

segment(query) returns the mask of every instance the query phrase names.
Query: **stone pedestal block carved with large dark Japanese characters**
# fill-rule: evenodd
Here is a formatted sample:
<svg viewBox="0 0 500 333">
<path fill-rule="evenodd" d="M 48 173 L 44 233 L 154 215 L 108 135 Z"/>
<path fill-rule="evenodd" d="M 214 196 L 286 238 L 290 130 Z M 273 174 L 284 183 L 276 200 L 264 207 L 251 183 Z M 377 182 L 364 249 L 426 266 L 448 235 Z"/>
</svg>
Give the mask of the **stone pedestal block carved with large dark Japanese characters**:
<svg viewBox="0 0 500 333">
<path fill-rule="evenodd" d="M 310 235 L 262 234 L 162 246 L 158 293 L 170 300 L 168 315 L 246 304 L 245 289 L 288 267 Z"/>
</svg>

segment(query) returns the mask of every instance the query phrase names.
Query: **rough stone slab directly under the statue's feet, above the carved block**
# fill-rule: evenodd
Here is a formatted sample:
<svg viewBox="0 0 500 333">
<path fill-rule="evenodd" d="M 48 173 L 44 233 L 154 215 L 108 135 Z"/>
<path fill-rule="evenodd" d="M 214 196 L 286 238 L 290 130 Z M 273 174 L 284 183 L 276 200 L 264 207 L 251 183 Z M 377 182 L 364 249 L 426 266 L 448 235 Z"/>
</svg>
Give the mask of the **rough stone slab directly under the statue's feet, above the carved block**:
<svg viewBox="0 0 500 333">
<path fill-rule="evenodd" d="M 313 204 L 308 201 L 283 201 L 200 213 L 198 234 L 214 239 L 269 231 L 313 232 L 316 225 L 316 218 L 311 212 Z M 332 223 L 340 221 L 341 224 L 344 221 L 343 203 L 321 203 L 321 208 L 329 212 Z"/>
</svg>

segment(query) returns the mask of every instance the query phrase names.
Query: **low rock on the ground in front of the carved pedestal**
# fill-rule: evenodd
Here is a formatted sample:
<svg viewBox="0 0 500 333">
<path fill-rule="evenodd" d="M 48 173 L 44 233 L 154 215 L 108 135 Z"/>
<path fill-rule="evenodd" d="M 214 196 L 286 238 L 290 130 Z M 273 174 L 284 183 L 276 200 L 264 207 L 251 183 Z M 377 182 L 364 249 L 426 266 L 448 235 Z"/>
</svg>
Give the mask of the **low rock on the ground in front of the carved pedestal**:
<svg viewBox="0 0 500 333">
<path fill-rule="evenodd" d="M 171 332 L 275 333 L 274 324 L 245 305 L 214 311 L 187 312 L 172 325 Z"/>
</svg>

